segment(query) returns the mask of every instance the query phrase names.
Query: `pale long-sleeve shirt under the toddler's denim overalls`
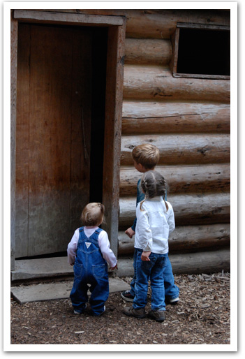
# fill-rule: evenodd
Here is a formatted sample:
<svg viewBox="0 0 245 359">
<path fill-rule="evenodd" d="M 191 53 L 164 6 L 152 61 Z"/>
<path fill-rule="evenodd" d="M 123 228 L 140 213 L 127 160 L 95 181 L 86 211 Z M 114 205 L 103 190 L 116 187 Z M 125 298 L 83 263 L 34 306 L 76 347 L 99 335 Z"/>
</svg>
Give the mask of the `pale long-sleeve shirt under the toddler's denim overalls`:
<svg viewBox="0 0 245 359">
<path fill-rule="evenodd" d="M 84 233 L 87 237 L 90 237 L 96 231 L 97 228 L 98 227 L 84 227 Z M 75 263 L 79 235 L 79 228 L 77 228 L 67 247 L 68 263 L 70 263 L 71 265 Z M 98 235 L 98 247 L 100 247 L 101 253 L 105 261 L 107 261 L 107 263 L 109 263 L 110 266 L 113 268 L 117 264 L 117 258 L 116 256 L 114 256 L 114 253 L 110 249 L 110 242 L 105 230 L 102 230 L 101 233 Z"/>
</svg>

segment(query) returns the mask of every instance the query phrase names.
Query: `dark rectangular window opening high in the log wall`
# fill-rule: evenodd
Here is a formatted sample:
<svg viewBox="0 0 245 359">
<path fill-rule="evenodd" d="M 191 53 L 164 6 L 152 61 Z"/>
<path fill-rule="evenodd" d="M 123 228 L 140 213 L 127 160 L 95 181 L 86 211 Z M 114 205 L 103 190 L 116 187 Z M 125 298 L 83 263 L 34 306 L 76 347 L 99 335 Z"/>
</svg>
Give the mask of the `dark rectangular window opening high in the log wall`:
<svg viewBox="0 0 245 359">
<path fill-rule="evenodd" d="M 177 27 L 175 33 L 175 77 L 230 78 L 230 28 Z"/>
</svg>

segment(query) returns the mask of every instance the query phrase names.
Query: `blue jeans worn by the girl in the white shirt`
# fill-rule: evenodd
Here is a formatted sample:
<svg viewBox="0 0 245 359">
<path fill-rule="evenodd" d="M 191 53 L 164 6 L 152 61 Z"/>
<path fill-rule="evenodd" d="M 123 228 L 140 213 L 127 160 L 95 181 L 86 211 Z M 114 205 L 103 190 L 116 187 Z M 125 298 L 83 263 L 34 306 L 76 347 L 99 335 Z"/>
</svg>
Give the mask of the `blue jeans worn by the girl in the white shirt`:
<svg viewBox="0 0 245 359">
<path fill-rule="evenodd" d="M 147 305 L 148 281 L 151 281 L 151 309 L 165 310 L 165 290 L 163 273 L 167 265 L 168 254 L 151 253 L 150 261 L 141 260 L 142 250 L 138 249 L 136 257 L 136 282 L 133 308 L 140 309 Z"/>
</svg>

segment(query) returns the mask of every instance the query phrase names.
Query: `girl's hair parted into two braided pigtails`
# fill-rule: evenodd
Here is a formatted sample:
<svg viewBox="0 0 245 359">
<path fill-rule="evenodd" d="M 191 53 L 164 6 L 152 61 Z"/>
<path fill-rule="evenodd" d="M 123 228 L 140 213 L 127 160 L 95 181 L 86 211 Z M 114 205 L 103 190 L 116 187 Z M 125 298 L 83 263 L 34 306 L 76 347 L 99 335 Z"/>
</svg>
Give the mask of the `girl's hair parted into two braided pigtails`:
<svg viewBox="0 0 245 359">
<path fill-rule="evenodd" d="M 141 188 L 145 193 L 145 198 L 154 198 L 156 196 L 163 196 L 163 200 L 168 212 L 168 203 L 165 201 L 166 181 L 165 178 L 155 170 L 145 172 L 141 177 Z M 142 203 L 140 202 L 140 210 L 142 210 Z"/>
</svg>

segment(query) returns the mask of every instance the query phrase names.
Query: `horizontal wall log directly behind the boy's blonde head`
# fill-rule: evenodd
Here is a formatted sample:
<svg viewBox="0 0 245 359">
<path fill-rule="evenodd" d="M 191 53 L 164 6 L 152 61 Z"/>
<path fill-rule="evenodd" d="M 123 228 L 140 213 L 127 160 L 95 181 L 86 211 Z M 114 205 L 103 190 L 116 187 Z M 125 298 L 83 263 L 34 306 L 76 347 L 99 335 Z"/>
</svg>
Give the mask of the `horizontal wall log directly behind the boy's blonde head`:
<svg viewBox="0 0 245 359">
<path fill-rule="evenodd" d="M 230 135 L 124 135 L 121 138 L 121 166 L 133 166 L 132 149 L 142 143 L 158 147 L 159 165 L 230 162 Z"/>
</svg>

